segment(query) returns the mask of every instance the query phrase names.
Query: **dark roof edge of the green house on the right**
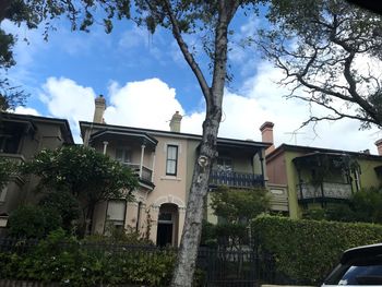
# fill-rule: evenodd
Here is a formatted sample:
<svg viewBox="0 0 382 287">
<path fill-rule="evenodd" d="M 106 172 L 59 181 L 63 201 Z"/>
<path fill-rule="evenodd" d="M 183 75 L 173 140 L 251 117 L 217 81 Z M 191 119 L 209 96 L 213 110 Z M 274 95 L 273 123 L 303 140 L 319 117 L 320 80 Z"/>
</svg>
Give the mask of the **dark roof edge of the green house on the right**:
<svg viewBox="0 0 382 287">
<path fill-rule="evenodd" d="M 276 157 L 278 154 L 285 152 L 285 151 L 293 151 L 293 152 L 303 152 L 308 153 L 310 155 L 312 154 L 326 154 L 326 155 L 353 155 L 357 157 L 365 157 L 369 159 L 377 159 L 382 160 L 382 156 L 380 155 L 371 155 L 362 152 L 349 152 L 349 151 L 343 151 L 343 150 L 333 150 L 333 148 L 323 148 L 323 147 L 315 147 L 315 146 L 302 146 L 302 145 L 290 145 L 290 144 L 282 144 L 277 148 L 275 148 L 273 152 L 271 152 L 268 155 L 266 155 L 267 160 L 272 160 L 272 158 Z M 302 155 L 307 156 L 307 155 Z"/>
</svg>

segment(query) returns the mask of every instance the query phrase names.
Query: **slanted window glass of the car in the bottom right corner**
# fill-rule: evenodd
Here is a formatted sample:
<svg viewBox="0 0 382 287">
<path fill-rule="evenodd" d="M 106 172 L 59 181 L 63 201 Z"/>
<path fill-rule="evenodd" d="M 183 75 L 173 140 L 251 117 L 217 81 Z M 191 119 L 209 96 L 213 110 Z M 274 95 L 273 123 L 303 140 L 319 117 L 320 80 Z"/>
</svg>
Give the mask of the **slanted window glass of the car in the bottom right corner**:
<svg viewBox="0 0 382 287">
<path fill-rule="evenodd" d="M 382 285 L 382 259 L 367 258 L 339 264 L 325 285 Z"/>
</svg>

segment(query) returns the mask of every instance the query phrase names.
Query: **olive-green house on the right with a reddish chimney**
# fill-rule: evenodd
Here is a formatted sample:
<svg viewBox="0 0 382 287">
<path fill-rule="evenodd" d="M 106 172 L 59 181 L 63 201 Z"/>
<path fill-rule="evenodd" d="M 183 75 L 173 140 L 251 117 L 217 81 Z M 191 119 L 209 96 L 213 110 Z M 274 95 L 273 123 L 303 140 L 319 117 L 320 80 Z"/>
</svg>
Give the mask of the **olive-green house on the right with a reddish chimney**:
<svg viewBox="0 0 382 287">
<path fill-rule="evenodd" d="M 273 123 L 261 127 L 263 139 L 273 143 Z M 382 153 L 382 141 L 377 142 Z M 346 202 L 363 188 L 382 183 L 382 156 L 369 151 L 359 153 L 282 144 L 266 150 L 268 183 L 287 189 L 289 214 L 301 216 L 311 206 Z"/>
</svg>

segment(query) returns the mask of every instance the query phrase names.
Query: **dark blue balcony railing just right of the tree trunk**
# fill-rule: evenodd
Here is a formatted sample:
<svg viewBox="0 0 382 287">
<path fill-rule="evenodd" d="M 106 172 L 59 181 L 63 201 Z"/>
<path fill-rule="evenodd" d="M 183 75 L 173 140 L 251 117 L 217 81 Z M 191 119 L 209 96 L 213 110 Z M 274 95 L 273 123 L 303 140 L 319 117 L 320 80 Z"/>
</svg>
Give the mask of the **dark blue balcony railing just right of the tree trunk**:
<svg viewBox="0 0 382 287">
<path fill-rule="evenodd" d="M 262 175 L 211 170 L 210 186 L 228 186 L 234 188 L 263 187 L 264 179 Z"/>
</svg>

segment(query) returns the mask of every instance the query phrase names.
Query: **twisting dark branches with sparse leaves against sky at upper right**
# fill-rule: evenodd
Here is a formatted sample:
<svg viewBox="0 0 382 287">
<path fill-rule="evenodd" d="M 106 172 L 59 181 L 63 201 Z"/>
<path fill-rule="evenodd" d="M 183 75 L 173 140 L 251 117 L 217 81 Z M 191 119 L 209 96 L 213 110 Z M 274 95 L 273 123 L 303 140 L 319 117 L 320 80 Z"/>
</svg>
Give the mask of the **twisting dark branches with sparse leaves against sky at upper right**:
<svg viewBox="0 0 382 287">
<path fill-rule="evenodd" d="M 382 124 L 382 17 L 336 0 L 272 0 L 256 43 L 279 68 L 288 98 L 326 108 L 309 122 L 351 118 Z M 314 112 L 314 111 L 313 111 Z"/>
</svg>

